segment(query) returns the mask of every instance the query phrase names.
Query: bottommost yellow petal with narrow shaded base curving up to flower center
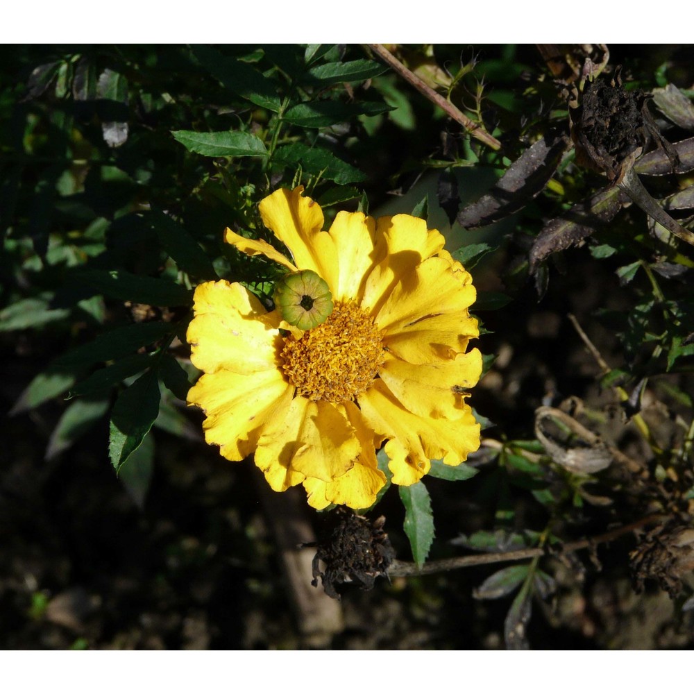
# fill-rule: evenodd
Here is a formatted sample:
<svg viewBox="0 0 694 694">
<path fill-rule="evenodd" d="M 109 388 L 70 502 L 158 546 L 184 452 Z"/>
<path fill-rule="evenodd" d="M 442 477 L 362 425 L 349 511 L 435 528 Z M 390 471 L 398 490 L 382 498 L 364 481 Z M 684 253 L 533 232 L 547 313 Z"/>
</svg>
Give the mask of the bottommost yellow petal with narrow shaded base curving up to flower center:
<svg viewBox="0 0 694 694">
<path fill-rule="evenodd" d="M 378 469 L 373 448 L 373 431 L 366 425 L 361 412 L 353 403 L 339 408 L 355 429 L 362 450 L 353 468 L 330 482 L 307 477 L 303 482 L 308 503 L 315 509 L 340 504 L 352 509 L 366 509 L 373 505 L 376 495 L 386 483 L 386 476 Z"/>
</svg>

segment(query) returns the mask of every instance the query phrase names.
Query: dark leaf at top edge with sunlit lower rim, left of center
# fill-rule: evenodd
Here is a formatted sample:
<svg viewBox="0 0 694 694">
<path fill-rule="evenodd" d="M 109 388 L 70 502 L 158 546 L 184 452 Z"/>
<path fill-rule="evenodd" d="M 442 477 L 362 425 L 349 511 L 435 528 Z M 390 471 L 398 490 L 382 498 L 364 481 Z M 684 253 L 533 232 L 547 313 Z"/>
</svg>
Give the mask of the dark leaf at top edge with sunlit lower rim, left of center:
<svg viewBox="0 0 694 694">
<path fill-rule="evenodd" d="M 278 85 L 246 62 L 223 56 L 211 46 L 195 46 L 195 57 L 226 89 L 268 110 L 280 110 Z M 216 156 L 216 155 L 213 155 Z"/>
</svg>

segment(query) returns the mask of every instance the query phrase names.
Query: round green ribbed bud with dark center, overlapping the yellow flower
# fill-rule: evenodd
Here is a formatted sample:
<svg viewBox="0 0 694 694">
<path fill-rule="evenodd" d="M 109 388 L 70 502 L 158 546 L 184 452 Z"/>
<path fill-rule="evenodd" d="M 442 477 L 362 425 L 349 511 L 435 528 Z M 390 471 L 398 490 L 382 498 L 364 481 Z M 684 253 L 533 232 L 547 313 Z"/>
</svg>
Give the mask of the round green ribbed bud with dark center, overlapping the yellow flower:
<svg viewBox="0 0 694 694">
<path fill-rule="evenodd" d="M 282 318 L 299 330 L 310 330 L 325 323 L 332 313 L 328 283 L 312 270 L 285 275 L 275 285 L 273 298 Z"/>
</svg>

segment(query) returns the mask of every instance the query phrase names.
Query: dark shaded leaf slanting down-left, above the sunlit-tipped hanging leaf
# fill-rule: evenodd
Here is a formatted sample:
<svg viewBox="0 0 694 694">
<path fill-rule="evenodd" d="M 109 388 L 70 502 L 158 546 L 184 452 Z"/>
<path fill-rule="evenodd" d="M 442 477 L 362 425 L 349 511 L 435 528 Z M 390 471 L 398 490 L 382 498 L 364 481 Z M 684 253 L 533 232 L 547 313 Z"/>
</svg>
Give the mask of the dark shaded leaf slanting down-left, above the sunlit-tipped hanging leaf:
<svg viewBox="0 0 694 694">
<path fill-rule="evenodd" d="M 76 347 L 53 362 L 56 368 L 60 366 L 82 366 L 87 368 L 96 362 L 108 362 L 135 352 L 162 339 L 171 332 L 171 323 L 134 323 L 115 328 L 99 335 L 91 342 Z M 69 387 L 69 386 L 68 386 Z"/>
</svg>

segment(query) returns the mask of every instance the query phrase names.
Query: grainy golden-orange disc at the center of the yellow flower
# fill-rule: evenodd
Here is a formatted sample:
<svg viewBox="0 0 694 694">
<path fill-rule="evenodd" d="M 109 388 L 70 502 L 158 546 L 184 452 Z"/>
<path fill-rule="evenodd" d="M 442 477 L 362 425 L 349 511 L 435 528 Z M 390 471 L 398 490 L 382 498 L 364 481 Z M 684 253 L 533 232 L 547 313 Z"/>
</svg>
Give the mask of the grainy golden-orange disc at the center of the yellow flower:
<svg viewBox="0 0 694 694">
<path fill-rule="evenodd" d="M 325 323 L 289 335 L 282 369 L 298 395 L 344 403 L 363 393 L 383 363 L 382 332 L 355 303 L 337 302 Z"/>
</svg>

